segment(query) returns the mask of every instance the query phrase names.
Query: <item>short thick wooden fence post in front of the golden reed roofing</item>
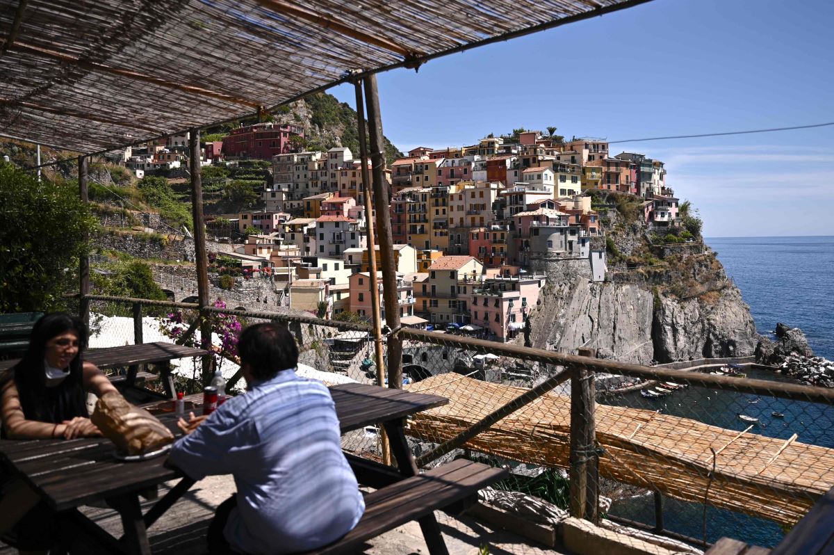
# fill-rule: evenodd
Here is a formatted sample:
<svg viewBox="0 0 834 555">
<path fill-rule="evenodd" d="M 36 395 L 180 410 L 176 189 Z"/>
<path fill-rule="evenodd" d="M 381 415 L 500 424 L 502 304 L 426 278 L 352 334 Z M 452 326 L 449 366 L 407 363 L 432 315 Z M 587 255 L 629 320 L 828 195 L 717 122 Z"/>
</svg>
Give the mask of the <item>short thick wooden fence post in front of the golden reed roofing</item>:
<svg viewBox="0 0 834 555">
<path fill-rule="evenodd" d="M 583 349 L 580 356 L 594 356 Z M 575 368 L 570 379 L 570 516 L 599 520 L 594 372 Z"/>
</svg>

